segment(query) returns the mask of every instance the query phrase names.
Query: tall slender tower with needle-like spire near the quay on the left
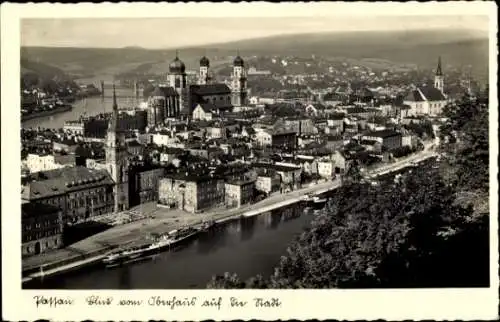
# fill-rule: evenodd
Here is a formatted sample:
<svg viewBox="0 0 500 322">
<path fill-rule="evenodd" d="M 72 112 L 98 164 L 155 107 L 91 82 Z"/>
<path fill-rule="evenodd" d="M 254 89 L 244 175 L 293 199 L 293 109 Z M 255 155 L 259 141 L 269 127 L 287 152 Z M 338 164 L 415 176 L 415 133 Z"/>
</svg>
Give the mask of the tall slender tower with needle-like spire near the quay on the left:
<svg viewBox="0 0 500 322">
<path fill-rule="evenodd" d="M 113 112 L 106 135 L 106 168 L 115 182 L 113 187 L 114 212 L 128 209 L 128 152 L 125 133 L 118 125 L 118 104 L 113 84 Z"/>
</svg>

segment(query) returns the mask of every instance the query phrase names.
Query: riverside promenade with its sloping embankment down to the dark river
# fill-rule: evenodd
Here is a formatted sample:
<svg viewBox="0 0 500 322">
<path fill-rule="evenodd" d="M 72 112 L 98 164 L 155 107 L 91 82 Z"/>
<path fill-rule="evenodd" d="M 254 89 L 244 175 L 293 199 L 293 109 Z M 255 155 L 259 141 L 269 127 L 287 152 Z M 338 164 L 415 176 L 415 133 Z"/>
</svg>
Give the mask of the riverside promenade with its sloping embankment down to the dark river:
<svg viewBox="0 0 500 322">
<path fill-rule="evenodd" d="M 378 167 L 368 177 L 400 170 L 413 162 L 419 162 L 435 153 L 428 148 L 396 162 Z M 90 236 L 64 249 L 55 250 L 23 260 L 23 282 L 31 278 L 49 276 L 90 265 L 103 258 L 110 250 L 147 242 L 151 234 L 166 233 L 181 227 L 196 227 L 203 221 L 223 222 L 240 216 L 254 216 L 300 202 L 308 194 L 320 194 L 340 187 L 339 179 L 311 183 L 301 189 L 284 194 L 272 195 L 260 202 L 240 208 L 211 209 L 205 213 L 191 214 L 181 210 L 159 207 L 156 203 L 136 207 L 146 219 L 114 226 L 104 232 Z"/>
</svg>

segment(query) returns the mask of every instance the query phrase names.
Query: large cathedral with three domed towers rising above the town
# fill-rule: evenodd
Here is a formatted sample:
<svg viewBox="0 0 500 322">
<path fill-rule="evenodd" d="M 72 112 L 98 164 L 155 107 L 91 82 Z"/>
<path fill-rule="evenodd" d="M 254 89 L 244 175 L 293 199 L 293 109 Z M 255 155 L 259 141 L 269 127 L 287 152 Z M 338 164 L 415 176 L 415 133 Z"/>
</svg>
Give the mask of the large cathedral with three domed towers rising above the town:
<svg viewBox="0 0 500 322">
<path fill-rule="evenodd" d="M 148 96 L 149 126 L 167 118 L 189 119 L 198 104 L 211 104 L 218 111 L 247 104 L 245 63 L 239 55 L 233 61 L 231 88 L 213 82 L 210 61 L 205 56 L 200 59 L 197 83 L 188 84 L 186 76 L 186 66 L 176 54 L 169 65 L 168 86 L 157 86 Z"/>
</svg>

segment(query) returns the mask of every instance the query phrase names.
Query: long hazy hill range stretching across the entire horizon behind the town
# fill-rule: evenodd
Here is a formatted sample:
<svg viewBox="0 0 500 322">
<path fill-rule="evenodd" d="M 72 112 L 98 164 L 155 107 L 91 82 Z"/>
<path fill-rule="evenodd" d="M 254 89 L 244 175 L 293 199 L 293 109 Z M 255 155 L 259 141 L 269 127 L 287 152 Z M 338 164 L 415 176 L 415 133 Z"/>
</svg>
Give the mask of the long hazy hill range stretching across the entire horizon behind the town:
<svg viewBox="0 0 500 322">
<path fill-rule="evenodd" d="M 376 58 L 397 63 L 435 67 L 437 56 L 445 65 L 472 65 L 475 70 L 488 70 L 487 35 L 470 30 L 425 30 L 389 32 L 342 32 L 273 36 L 241 40 L 203 47 L 179 48 L 188 69 L 198 67 L 206 54 L 213 65 L 227 62 L 236 50 L 242 56 L 280 55 L 310 57 Z M 116 74 L 151 63 L 151 70 L 165 72 L 175 57 L 175 50 L 124 47 L 55 48 L 23 47 L 21 57 L 56 66 L 71 74 Z"/>
</svg>

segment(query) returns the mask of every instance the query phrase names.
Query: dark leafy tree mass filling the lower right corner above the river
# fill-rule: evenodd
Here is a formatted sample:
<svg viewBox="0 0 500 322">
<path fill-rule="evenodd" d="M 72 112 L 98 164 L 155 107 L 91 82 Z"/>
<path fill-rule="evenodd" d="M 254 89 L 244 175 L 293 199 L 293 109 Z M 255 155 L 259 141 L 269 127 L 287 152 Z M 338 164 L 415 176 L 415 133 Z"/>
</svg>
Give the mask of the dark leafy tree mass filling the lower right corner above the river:
<svg viewBox="0 0 500 322">
<path fill-rule="evenodd" d="M 455 139 L 445 164 L 455 179 L 427 163 L 371 186 L 354 166 L 274 274 L 246 282 L 227 274 L 209 287 L 488 286 L 489 214 L 457 202 L 457 192 L 488 191 L 487 99 L 465 98 L 445 113 L 441 136 Z"/>
</svg>

